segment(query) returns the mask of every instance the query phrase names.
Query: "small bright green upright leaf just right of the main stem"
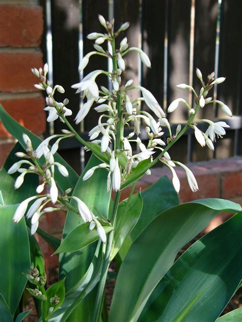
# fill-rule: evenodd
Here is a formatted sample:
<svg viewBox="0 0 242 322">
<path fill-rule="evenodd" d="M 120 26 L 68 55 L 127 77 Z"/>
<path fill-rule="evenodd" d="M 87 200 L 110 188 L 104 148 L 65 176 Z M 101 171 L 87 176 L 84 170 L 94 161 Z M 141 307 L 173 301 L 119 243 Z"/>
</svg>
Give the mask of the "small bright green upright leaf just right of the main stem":
<svg viewBox="0 0 242 322">
<path fill-rule="evenodd" d="M 140 193 L 132 195 L 131 198 L 127 198 L 119 203 L 111 259 L 117 254 L 124 240 L 137 223 L 142 206 L 143 201 Z"/>
</svg>

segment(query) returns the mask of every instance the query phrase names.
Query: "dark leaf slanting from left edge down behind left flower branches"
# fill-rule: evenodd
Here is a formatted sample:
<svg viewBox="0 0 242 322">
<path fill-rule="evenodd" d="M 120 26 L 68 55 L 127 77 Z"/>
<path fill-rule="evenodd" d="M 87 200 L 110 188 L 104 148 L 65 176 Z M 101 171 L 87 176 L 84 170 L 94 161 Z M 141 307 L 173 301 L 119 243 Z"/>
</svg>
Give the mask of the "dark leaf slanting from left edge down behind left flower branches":
<svg viewBox="0 0 242 322">
<path fill-rule="evenodd" d="M 22 139 L 22 134 L 26 133 L 33 144 L 33 148 L 36 149 L 38 145 L 42 142 L 37 136 L 35 136 L 32 132 L 27 130 L 25 127 L 21 126 L 17 121 L 15 121 L 3 108 L 3 106 L 0 104 L 0 119 L 3 122 L 3 125 L 7 129 L 7 131 L 15 137 L 19 143 L 23 146 L 23 148 L 26 147 L 25 142 Z M 77 180 L 79 178 L 78 174 L 65 162 L 65 160 L 58 154 L 55 154 L 55 161 L 61 163 L 63 166 L 66 167 L 66 169 L 69 172 L 69 177 L 63 177 L 59 171 L 56 171 L 55 179 L 62 191 L 65 191 L 69 187 L 74 188 Z M 39 160 L 39 163 L 41 163 L 42 160 Z"/>
</svg>

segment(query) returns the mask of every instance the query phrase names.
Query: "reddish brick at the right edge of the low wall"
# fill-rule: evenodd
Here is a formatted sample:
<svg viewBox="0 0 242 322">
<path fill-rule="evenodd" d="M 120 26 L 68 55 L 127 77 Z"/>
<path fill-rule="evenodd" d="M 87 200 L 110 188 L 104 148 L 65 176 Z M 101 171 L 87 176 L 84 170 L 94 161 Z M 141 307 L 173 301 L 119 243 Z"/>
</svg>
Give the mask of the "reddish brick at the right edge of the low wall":
<svg viewBox="0 0 242 322">
<path fill-rule="evenodd" d="M 228 199 L 242 195 L 242 172 L 234 171 L 222 177 L 222 198 Z"/>
</svg>

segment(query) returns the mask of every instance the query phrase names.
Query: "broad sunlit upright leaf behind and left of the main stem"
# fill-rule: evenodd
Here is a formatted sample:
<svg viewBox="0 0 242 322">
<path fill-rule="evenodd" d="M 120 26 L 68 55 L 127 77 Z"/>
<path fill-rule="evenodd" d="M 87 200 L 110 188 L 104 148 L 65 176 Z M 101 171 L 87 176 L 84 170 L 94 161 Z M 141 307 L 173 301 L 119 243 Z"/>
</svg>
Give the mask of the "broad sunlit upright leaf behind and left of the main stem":
<svg viewBox="0 0 242 322">
<path fill-rule="evenodd" d="M 81 178 L 79 179 L 75 190 L 74 196 L 79 197 L 84 201 L 87 206 L 93 205 L 107 218 L 109 202 L 111 198 L 110 192 L 107 192 L 107 171 L 105 169 L 97 169 L 91 178 L 86 181 L 82 181 L 82 177 L 85 172 L 99 165 L 101 162 L 94 155 L 91 156 Z M 76 206 L 75 201 L 72 202 Z M 95 213 L 94 209 L 92 211 Z M 95 213 L 97 214 L 97 213 Z M 80 218 L 76 213 L 68 211 L 65 222 L 63 237 L 65 237 L 71 230 L 81 224 Z M 77 251 L 75 253 L 60 254 L 60 276 L 65 279 L 66 291 L 69 291 L 72 287 L 78 283 L 82 277 L 86 274 L 88 267 L 92 261 L 96 249 L 96 245 L 91 244 L 88 247 Z M 94 297 L 88 294 L 87 298 L 82 301 L 81 305 L 71 314 L 69 321 L 88 320 L 88 314 L 92 312 L 94 303 Z"/>
</svg>

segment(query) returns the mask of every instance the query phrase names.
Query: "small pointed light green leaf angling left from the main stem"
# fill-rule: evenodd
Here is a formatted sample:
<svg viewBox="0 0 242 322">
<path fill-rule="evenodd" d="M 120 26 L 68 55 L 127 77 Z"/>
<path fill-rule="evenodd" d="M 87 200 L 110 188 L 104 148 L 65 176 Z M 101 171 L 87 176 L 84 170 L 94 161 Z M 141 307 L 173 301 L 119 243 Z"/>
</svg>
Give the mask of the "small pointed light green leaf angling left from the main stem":
<svg viewBox="0 0 242 322">
<path fill-rule="evenodd" d="M 113 227 L 108 224 L 104 226 L 104 224 L 102 223 L 102 226 L 106 234 L 113 230 Z M 62 240 L 61 245 L 57 248 L 54 254 L 76 252 L 98 239 L 98 231 L 95 228 L 93 230 L 90 230 L 89 223 L 79 225 L 68 233 L 68 235 Z"/>
</svg>

